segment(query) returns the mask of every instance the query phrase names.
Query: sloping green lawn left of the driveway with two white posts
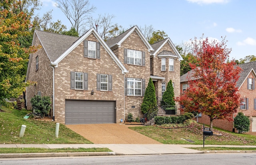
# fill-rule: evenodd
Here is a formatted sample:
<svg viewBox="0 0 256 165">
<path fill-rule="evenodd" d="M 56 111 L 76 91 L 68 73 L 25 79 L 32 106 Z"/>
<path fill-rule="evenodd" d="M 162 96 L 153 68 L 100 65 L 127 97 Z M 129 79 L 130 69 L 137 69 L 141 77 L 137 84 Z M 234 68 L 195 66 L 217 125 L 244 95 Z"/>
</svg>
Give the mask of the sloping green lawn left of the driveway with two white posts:
<svg viewBox="0 0 256 165">
<path fill-rule="evenodd" d="M 0 112 L 0 143 L 2 144 L 87 144 L 92 143 L 60 123 L 58 138 L 55 137 L 56 122 L 40 121 L 32 117 L 23 119 L 30 113 L 2 107 Z M 22 125 L 26 125 L 23 137 L 19 137 Z"/>
</svg>

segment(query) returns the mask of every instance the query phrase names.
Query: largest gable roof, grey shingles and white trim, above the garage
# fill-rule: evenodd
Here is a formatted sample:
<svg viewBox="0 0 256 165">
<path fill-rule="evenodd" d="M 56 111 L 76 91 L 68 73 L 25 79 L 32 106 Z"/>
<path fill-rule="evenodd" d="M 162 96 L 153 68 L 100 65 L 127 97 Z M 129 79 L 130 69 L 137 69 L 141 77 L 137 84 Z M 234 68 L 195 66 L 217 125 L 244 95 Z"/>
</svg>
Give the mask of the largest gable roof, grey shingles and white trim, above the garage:
<svg viewBox="0 0 256 165">
<path fill-rule="evenodd" d="M 124 65 L 118 60 L 116 55 L 112 52 L 112 50 L 108 47 L 106 42 L 100 37 L 98 32 L 94 28 L 88 30 L 83 36 L 80 38 L 74 36 L 66 36 L 62 34 L 55 34 L 51 32 L 44 32 L 40 30 L 35 30 L 32 45 L 35 45 L 36 38 L 40 40 L 40 44 L 42 48 L 45 50 L 51 65 L 54 67 L 58 67 L 58 63 L 65 58 L 74 48 L 76 48 L 81 42 L 83 42 L 90 34 L 94 34 L 103 48 L 108 52 L 111 58 L 116 62 L 118 67 L 122 70 L 122 74 L 127 73 L 128 70 L 124 67 Z M 28 61 L 28 70 L 26 80 L 28 78 L 31 66 L 31 58 Z"/>
</svg>

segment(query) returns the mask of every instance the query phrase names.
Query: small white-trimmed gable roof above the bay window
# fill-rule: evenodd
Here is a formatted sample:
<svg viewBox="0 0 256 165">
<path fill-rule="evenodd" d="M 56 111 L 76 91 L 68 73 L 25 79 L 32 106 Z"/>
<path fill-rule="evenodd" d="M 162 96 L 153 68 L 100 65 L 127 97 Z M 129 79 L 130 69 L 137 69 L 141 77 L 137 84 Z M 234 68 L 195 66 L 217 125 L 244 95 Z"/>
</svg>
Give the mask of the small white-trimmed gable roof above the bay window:
<svg viewBox="0 0 256 165">
<path fill-rule="evenodd" d="M 154 49 L 154 51 L 152 51 L 150 53 L 151 56 L 154 56 L 156 57 L 156 54 L 158 54 L 158 52 L 160 51 L 160 49 L 166 44 L 168 43 L 172 50 L 174 51 L 174 54 L 170 54 L 170 53 L 167 53 L 166 55 L 172 57 L 173 55 L 174 56 L 177 56 L 179 61 L 183 60 L 182 56 L 180 56 L 180 53 L 178 52 L 178 50 L 176 49 L 176 47 L 174 46 L 174 44 L 172 43 L 172 40 L 168 37 L 162 41 L 159 41 L 159 42 L 156 42 L 155 44 L 152 44 L 152 48 Z M 167 51 L 166 51 L 167 52 Z M 169 51 L 168 51 L 169 52 Z M 161 52 L 161 53 L 164 53 L 164 52 Z"/>
</svg>

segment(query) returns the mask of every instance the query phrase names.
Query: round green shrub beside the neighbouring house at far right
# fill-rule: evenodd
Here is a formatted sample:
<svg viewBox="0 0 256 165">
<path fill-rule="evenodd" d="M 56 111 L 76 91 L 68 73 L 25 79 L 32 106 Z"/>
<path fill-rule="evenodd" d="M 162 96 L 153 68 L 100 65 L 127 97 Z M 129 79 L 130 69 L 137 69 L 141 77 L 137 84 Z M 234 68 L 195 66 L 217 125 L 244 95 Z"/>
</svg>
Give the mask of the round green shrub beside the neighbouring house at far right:
<svg viewBox="0 0 256 165">
<path fill-rule="evenodd" d="M 238 133 L 248 132 L 250 130 L 250 119 L 242 112 L 238 112 L 234 118 L 234 127 L 238 130 Z"/>
</svg>

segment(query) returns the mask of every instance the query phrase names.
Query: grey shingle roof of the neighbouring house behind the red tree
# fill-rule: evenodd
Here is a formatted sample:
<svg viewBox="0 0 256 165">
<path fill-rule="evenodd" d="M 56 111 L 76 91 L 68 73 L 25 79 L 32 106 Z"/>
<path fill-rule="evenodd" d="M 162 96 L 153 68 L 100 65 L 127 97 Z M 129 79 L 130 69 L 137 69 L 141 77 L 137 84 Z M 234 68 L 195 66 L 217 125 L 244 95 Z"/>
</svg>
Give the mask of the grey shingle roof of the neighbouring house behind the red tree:
<svg viewBox="0 0 256 165">
<path fill-rule="evenodd" d="M 238 89 L 240 89 L 240 87 L 242 86 L 242 84 L 246 81 L 246 78 L 248 77 L 248 75 L 252 72 L 254 74 L 254 76 L 256 76 L 256 61 L 254 62 L 248 62 L 248 63 L 244 63 L 244 64 L 238 64 L 235 67 L 239 66 L 242 69 L 242 72 L 240 73 L 240 78 L 238 79 L 238 81 L 236 82 L 236 86 L 238 87 Z M 180 82 L 187 82 L 187 76 L 191 76 L 193 74 L 193 71 L 190 70 L 189 72 L 187 72 L 186 74 L 180 76 Z M 192 80 L 196 80 L 195 78 L 191 78 Z"/>
</svg>

